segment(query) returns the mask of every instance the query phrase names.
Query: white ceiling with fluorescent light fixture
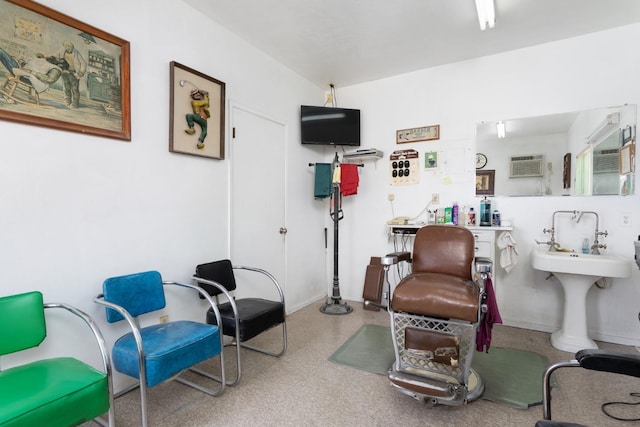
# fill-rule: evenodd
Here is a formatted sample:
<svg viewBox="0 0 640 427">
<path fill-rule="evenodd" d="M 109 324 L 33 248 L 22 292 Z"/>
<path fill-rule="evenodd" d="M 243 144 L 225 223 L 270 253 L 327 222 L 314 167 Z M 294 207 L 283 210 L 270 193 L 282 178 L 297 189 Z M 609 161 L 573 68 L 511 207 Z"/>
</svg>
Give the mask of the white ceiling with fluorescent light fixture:
<svg viewBox="0 0 640 427">
<path fill-rule="evenodd" d="M 640 0 L 495 0 L 486 31 L 474 0 L 183 1 L 325 88 L 640 22 Z"/>
</svg>

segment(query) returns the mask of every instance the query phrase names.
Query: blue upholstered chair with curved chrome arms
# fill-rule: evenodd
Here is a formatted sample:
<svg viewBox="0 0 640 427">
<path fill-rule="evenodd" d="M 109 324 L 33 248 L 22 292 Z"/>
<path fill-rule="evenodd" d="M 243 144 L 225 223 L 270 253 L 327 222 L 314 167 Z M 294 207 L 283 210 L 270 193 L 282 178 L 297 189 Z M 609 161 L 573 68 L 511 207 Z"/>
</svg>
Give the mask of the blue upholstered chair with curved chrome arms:
<svg viewBox="0 0 640 427">
<path fill-rule="evenodd" d="M 113 345 L 112 358 L 118 372 L 138 379 L 118 396 L 140 388 L 142 426 L 147 425 L 147 387 L 175 379 L 211 396 L 220 395 L 225 387 L 223 335 L 218 326 L 189 320 L 140 326 L 139 316 L 165 307 L 164 286 L 170 285 L 201 294 L 209 302 L 214 317 L 220 320 L 215 303 L 205 291 L 190 284 L 163 281 L 157 271 L 109 278 L 103 283 L 103 293 L 95 299 L 96 303 L 107 307 L 107 322 L 124 319 L 131 328 L 131 332 L 118 338 Z M 182 371 L 216 356 L 219 357 L 220 377 L 201 373 L 211 380 L 219 380 L 218 387 L 207 388 L 179 376 Z"/>
</svg>

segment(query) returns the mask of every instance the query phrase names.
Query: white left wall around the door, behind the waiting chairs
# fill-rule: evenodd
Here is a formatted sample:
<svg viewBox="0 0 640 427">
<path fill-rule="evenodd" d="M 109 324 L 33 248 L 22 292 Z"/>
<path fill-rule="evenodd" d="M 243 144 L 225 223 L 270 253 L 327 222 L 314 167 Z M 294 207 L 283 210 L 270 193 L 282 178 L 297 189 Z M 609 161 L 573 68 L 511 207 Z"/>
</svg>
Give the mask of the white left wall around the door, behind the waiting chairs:
<svg viewBox="0 0 640 427">
<path fill-rule="evenodd" d="M 92 301 L 106 277 L 154 269 L 190 283 L 196 264 L 228 256 L 230 161 L 168 152 L 169 62 L 175 60 L 225 82 L 229 102 L 288 125 L 287 226 L 294 249 L 287 252 L 287 277 L 278 279 L 288 289 L 289 311 L 322 296 L 324 210 L 313 204 L 307 165 L 324 153 L 300 146 L 298 123 L 300 105 L 322 103 L 324 91 L 178 0 L 42 3 L 131 43 L 132 138 L 0 122 L 0 294 L 40 290 L 47 302 L 76 305 L 99 321 L 111 343 L 114 326 Z M 313 245 L 309 224 L 317 224 Z M 189 310 L 193 303 L 186 300 L 180 314 L 204 318 L 204 310 Z M 73 338 L 79 330 L 66 334 Z M 50 335 L 57 332 L 64 333 L 54 322 Z M 44 344 L 51 354 L 55 347 Z"/>
</svg>

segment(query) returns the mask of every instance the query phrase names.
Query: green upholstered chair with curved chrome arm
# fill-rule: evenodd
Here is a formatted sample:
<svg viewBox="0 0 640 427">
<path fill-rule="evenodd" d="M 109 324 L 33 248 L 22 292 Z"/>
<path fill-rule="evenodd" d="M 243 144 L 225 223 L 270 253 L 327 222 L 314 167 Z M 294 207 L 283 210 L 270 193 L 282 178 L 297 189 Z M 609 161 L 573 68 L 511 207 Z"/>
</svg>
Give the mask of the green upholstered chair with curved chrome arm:
<svg viewBox="0 0 640 427">
<path fill-rule="evenodd" d="M 0 426 L 75 426 L 104 413 L 108 425 L 115 425 L 109 352 L 86 313 L 67 304 L 43 304 L 37 291 L 1 297 L 0 356 L 37 347 L 47 338 L 45 308 L 64 309 L 89 326 L 100 348 L 103 371 L 73 357 L 40 359 L 0 370 Z M 73 344 L 77 345 L 84 343 Z M 107 425 L 100 418 L 96 421 Z"/>
</svg>

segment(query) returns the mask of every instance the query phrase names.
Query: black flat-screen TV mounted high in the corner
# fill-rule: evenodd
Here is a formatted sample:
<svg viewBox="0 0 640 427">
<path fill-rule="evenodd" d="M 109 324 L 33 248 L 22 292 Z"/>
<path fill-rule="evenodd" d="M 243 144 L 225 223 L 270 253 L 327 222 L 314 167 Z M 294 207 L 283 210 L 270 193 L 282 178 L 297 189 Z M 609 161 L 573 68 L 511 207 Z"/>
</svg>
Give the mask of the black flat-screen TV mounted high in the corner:
<svg viewBox="0 0 640 427">
<path fill-rule="evenodd" d="M 300 107 L 303 144 L 360 145 L 360 110 L 337 107 Z"/>
</svg>

